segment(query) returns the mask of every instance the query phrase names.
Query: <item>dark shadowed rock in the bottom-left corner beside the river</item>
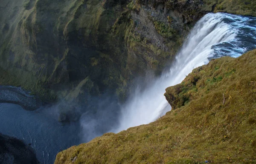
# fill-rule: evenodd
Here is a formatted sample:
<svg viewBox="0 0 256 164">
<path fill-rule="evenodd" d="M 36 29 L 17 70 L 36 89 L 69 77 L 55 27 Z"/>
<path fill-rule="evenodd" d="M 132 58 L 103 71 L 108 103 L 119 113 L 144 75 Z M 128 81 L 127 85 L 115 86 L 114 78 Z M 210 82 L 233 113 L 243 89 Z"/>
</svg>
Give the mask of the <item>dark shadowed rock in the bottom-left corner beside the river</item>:
<svg viewBox="0 0 256 164">
<path fill-rule="evenodd" d="M 34 151 L 23 141 L 0 133 L 0 164 L 39 164 Z"/>
</svg>

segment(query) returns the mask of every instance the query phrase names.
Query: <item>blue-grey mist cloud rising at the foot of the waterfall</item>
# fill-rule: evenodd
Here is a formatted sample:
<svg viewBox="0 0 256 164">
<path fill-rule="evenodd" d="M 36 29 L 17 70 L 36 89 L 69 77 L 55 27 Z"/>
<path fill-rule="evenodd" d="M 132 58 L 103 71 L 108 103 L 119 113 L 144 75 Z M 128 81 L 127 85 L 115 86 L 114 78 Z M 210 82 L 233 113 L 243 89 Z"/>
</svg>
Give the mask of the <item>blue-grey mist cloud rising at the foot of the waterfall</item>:
<svg viewBox="0 0 256 164">
<path fill-rule="evenodd" d="M 81 115 L 81 141 L 88 142 L 106 132 L 115 129 L 120 115 L 120 104 L 115 95 L 106 93 L 91 98 L 86 112 Z"/>
</svg>

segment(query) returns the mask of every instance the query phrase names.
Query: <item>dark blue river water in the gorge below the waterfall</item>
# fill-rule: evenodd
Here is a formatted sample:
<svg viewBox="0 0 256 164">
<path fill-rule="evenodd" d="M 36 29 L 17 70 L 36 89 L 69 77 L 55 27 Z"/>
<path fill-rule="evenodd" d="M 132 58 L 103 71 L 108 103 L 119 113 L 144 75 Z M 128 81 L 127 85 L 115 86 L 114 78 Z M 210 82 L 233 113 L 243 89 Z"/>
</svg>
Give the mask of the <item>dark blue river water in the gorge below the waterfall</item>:
<svg viewBox="0 0 256 164">
<path fill-rule="evenodd" d="M 58 152 L 81 142 L 79 122 L 62 125 L 57 118 L 49 109 L 0 104 L 0 132 L 31 144 L 42 164 L 53 164 Z"/>
</svg>

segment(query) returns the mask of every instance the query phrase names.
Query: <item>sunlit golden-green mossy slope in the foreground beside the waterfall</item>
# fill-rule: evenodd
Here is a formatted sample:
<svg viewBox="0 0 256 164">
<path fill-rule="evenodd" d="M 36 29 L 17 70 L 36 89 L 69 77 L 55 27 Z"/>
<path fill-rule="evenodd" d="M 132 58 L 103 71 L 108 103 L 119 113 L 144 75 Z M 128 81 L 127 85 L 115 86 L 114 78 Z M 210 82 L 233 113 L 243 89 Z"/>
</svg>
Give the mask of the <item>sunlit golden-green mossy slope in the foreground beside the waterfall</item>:
<svg viewBox="0 0 256 164">
<path fill-rule="evenodd" d="M 194 69 L 166 89 L 165 116 L 70 147 L 55 164 L 256 163 L 255 63 L 253 50 Z"/>
</svg>

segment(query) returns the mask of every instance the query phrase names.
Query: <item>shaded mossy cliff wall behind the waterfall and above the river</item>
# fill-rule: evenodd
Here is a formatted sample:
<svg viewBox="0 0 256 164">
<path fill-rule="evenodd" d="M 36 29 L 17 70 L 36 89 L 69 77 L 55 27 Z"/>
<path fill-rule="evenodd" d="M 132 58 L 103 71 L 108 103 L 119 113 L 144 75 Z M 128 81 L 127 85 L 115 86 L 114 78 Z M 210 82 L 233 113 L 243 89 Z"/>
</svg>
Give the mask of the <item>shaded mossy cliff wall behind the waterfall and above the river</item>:
<svg viewBox="0 0 256 164">
<path fill-rule="evenodd" d="M 125 99 L 135 77 L 158 75 L 192 25 L 209 9 L 230 12 L 228 3 L 2 0 L 0 85 L 22 86 L 45 101 L 106 89 Z M 242 4 L 255 16 L 254 1 Z"/>
</svg>

